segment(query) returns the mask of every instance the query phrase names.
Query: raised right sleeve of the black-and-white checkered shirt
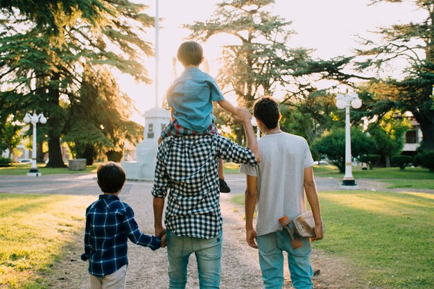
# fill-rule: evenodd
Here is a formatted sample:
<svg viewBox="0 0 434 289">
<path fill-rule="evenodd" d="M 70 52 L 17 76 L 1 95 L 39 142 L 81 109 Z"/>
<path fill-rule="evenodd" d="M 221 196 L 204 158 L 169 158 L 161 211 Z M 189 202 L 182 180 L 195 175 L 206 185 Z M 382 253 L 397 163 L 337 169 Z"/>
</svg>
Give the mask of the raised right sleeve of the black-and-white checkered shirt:
<svg viewBox="0 0 434 289">
<path fill-rule="evenodd" d="M 236 164 L 249 164 L 250 166 L 257 166 L 257 159 L 254 157 L 254 154 L 250 148 L 238 146 L 230 139 L 220 135 L 216 135 L 216 138 L 218 140 L 217 154 L 220 159 L 233 161 Z"/>
</svg>

